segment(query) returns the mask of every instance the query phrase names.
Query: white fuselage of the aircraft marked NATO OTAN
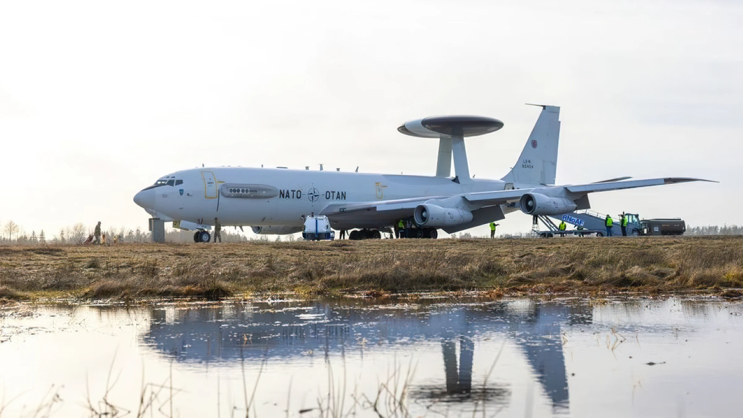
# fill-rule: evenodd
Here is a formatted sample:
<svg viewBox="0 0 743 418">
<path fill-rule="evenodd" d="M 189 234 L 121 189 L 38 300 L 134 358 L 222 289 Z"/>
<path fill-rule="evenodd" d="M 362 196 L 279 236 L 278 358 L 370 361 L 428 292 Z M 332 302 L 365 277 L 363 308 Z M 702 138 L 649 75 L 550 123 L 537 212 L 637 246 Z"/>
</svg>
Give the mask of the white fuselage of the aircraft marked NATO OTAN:
<svg viewBox="0 0 743 418">
<path fill-rule="evenodd" d="M 172 185 L 167 184 L 170 180 L 174 180 Z M 296 227 L 302 227 L 305 216 L 320 213 L 334 203 L 455 196 L 503 190 L 505 185 L 501 180 L 469 179 L 459 184 L 432 176 L 249 167 L 182 170 L 158 182 L 163 185 L 140 191 L 134 202 L 160 219 L 214 225 L 214 218 L 218 217 L 221 225 Z M 334 225 L 334 228 L 390 226 L 374 222 L 378 221 Z"/>
</svg>

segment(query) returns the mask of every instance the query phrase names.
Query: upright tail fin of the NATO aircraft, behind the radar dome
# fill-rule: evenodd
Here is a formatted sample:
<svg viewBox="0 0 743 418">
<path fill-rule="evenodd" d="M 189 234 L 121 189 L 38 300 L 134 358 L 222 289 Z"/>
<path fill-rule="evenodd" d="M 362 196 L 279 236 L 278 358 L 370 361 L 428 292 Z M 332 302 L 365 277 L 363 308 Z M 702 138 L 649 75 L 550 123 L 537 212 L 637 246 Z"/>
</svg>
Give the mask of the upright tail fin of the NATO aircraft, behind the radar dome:
<svg viewBox="0 0 743 418">
<path fill-rule="evenodd" d="M 519 161 L 502 180 L 517 184 L 554 184 L 557 175 L 559 106 L 542 106 Z"/>
</svg>

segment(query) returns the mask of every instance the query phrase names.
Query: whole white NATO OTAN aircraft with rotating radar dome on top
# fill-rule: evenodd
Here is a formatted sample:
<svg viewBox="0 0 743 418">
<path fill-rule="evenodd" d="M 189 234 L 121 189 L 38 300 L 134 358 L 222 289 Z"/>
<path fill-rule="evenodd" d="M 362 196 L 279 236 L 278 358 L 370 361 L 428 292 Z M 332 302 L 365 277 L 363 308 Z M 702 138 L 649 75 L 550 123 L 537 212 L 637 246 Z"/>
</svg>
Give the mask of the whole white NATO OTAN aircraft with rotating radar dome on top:
<svg viewBox="0 0 743 418">
<path fill-rule="evenodd" d="M 251 226 L 256 234 L 302 231 L 305 216 L 326 215 L 337 230 L 352 231 L 351 239 L 379 238 L 398 219 L 413 225 L 407 236 L 449 234 L 504 219 L 516 210 L 529 215 L 559 215 L 588 209 L 588 194 L 658 184 L 707 181 L 684 177 L 629 180 L 627 177 L 591 184 L 555 185 L 559 107 L 541 106 L 519 161 L 503 179 L 473 179 L 464 138 L 495 132 L 503 122 L 480 116 L 435 116 L 411 120 L 403 134 L 438 138 L 435 176 L 344 173 L 279 168 L 211 167 L 170 173 L 134 196 L 153 218 L 197 231 L 196 241 L 208 241 L 208 230 L 219 218 L 224 226 Z M 454 176 L 451 162 L 454 161 Z"/>
</svg>

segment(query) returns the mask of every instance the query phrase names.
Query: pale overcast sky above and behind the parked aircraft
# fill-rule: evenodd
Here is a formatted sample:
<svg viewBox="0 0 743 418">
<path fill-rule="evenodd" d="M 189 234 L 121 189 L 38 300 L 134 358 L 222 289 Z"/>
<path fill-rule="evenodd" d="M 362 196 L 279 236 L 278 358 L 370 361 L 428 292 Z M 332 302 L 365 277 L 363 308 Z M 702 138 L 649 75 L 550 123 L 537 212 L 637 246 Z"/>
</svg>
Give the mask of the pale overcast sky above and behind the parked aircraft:
<svg viewBox="0 0 743 418">
<path fill-rule="evenodd" d="M 134 193 L 202 163 L 433 175 L 438 142 L 396 130 L 429 115 L 503 120 L 467 141 L 470 173 L 500 179 L 542 103 L 558 183 L 721 181 L 594 210 L 742 224 L 741 22 L 710 0 L 3 0 L 0 222 L 146 228 Z"/>
</svg>

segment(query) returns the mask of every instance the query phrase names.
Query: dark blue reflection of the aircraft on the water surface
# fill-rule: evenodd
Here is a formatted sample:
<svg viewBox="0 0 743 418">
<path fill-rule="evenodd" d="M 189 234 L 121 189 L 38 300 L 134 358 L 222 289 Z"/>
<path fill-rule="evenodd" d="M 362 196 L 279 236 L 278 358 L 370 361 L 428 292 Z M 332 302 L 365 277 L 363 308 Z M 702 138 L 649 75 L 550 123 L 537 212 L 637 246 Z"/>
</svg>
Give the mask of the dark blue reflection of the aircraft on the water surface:
<svg viewBox="0 0 743 418">
<path fill-rule="evenodd" d="M 569 404 L 562 327 L 591 322 L 587 306 L 531 300 L 413 306 L 314 300 L 152 312 L 144 340 L 177 361 L 268 358 L 270 364 L 306 353 L 363 355 L 377 350 L 377 343 L 441 341 L 445 386 L 415 385 L 410 390 L 415 398 L 438 402 L 508 402 L 508 385 L 473 385 L 475 341 L 502 335 L 521 348 L 556 413 L 566 412 Z"/>
</svg>

